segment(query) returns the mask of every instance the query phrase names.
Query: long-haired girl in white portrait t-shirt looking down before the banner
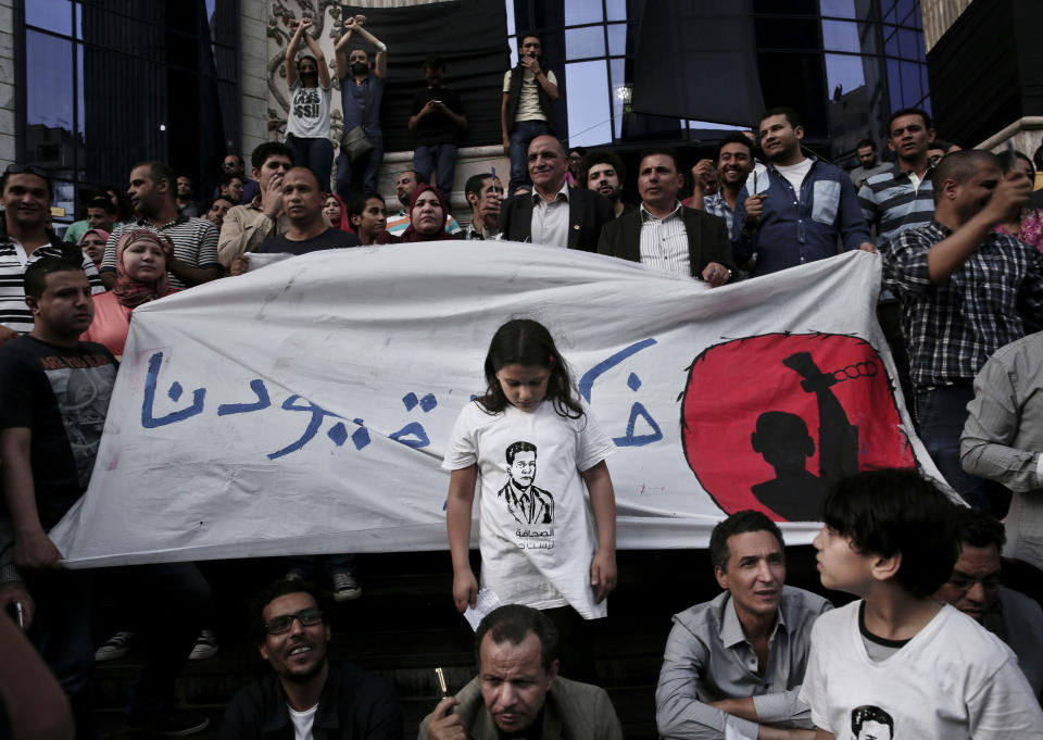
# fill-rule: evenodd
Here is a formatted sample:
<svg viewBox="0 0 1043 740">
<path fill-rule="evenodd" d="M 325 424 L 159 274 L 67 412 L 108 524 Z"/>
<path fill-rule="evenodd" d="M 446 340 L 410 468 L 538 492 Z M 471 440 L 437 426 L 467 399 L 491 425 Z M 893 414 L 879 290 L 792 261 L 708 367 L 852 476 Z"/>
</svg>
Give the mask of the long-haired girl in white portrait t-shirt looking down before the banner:
<svg viewBox="0 0 1043 740">
<path fill-rule="evenodd" d="M 501 326 L 485 372 L 486 394 L 461 412 L 442 463 L 452 471 L 445 518 L 456 609 L 474 606 L 478 593 L 468 556 L 477 489 L 482 588 L 503 603 L 605 616 L 616 585 L 605 457 L 615 447 L 541 324 Z"/>
</svg>

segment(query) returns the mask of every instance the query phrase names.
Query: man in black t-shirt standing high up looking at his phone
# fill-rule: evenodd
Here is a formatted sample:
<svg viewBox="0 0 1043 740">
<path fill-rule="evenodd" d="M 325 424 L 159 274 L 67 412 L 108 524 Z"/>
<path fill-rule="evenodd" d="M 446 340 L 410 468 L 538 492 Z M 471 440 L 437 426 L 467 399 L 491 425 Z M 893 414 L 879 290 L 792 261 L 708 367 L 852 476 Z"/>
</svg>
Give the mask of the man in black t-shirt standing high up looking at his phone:
<svg viewBox="0 0 1043 740">
<path fill-rule="evenodd" d="M 453 196 L 453 176 L 456 173 L 458 135 L 467 130 L 467 116 L 460 97 L 442 85 L 445 60 L 428 57 L 424 60 L 427 87 L 413 97 L 410 130 L 416 139 L 413 168 L 430 181 L 438 173 L 437 187 L 449 203 Z"/>
</svg>

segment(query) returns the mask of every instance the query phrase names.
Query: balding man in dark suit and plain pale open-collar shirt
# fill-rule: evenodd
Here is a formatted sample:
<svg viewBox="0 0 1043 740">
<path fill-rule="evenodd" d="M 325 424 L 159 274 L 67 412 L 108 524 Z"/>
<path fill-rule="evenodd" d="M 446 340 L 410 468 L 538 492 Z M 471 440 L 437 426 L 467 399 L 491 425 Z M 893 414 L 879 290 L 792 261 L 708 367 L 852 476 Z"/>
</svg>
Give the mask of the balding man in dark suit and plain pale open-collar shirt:
<svg viewBox="0 0 1043 740">
<path fill-rule="evenodd" d="M 565 183 L 568 164 L 561 142 L 538 136 L 529 143 L 532 192 L 508 198 L 500 211 L 500 234 L 511 241 L 531 241 L 593 252 L 601 227 L 613 220 L 612 201 Z"/>
</svg>

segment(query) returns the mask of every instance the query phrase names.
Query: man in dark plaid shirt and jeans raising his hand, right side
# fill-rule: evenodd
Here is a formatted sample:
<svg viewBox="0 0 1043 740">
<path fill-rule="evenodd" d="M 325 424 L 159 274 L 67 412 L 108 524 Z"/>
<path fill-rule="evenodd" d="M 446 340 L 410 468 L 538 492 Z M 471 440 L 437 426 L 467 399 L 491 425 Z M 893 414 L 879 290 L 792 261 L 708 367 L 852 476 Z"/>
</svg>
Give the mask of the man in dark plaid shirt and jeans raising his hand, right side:
<svg viewBox="0 0 1043 740">
<path fill-rule="evenodd" d="M 971 505 L 1002 517 L 1009 492 L 964 473 L 959 435 L 971 381 L 1004 344 L 1043 328 L 1043 255 L 993 226 L 1032 191 L 985 151 L 947 155 L 934 177 L 934 220 L 883 253 L 887 287 L 902 303 L 919 435 L 945 479 Z"/>
</svg>

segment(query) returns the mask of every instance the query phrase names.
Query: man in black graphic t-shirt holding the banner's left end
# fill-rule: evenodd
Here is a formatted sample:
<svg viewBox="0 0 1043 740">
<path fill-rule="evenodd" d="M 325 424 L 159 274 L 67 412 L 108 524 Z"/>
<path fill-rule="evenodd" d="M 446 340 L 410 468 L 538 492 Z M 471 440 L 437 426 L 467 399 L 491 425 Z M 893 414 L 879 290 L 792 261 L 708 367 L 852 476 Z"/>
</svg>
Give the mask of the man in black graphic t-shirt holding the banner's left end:
<svg viewBox="0 0 1043 740">
<path fill-rule="evenodd" d="M 79 341 L 95 315 L 90 293 L 77 263 L 35 262 L 25 272 L 33 331 L 0 347 L 0 607 L 21 607 L 29 637 L 70 697 L 80 737 L 91 737 L 83 691 L 95 662 L 91 572 L 61 568 L 63 555 L 48 531 L 87 490 L 116 379 L 112 353 Z M 174 710 L 173 699 L 209 588 L 187 563 L 125 575 L 137 603 L 162 606 L 143 630 L 147 650 L 127 713 L 159 731 L 202 730 L 206 718 Z"/>
</svg>

